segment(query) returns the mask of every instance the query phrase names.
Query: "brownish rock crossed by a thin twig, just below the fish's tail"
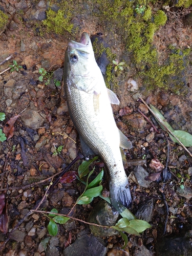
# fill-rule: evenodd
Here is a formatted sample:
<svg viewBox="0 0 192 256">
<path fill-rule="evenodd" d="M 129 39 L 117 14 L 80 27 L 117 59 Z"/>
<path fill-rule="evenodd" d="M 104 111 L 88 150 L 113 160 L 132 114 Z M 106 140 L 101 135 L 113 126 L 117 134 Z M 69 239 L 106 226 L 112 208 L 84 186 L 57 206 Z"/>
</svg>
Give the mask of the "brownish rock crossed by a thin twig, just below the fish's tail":
<svg viewBox="0 0 192 256">
<path fill-rule="evenodd" d="M 89 222 L 103 226 L 114 226 L 119 214 L 113 213 L 112 207 L 104 200 L 101 200 L 90 213 Z M 110 237 L 119 232 L 112 228 L 102 228 L 90 225 L 90 230 L 95 237 Z"/>
</svg>

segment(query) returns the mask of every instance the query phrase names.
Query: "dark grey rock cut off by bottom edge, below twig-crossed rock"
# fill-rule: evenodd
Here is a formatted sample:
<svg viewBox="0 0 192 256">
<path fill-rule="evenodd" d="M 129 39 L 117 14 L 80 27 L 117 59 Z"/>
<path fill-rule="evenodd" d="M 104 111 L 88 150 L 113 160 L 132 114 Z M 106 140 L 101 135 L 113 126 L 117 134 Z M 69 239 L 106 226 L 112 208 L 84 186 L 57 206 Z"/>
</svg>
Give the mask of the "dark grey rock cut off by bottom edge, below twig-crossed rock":
<svg viewBox="0 0 192 256">
<path fill-rule="evenodd" d="M 65 256 L 104 256 L 107 250 L 102 239 L 83 231 L 73 244 L 63 250 L 63 254 Z"/>
</svg>

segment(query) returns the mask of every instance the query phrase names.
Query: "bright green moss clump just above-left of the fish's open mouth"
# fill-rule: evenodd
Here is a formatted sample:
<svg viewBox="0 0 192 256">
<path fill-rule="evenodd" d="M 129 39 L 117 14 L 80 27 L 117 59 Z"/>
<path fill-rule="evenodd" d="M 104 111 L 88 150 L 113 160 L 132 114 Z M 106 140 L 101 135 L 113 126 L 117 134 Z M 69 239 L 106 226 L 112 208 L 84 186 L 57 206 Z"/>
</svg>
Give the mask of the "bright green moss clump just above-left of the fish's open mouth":
<svg viewBox="0 0 192 256">
<path fill-rule="evenodd" d="M 47 19 L 42 21 L 47 27 L 48 32 L 55 32 L 56 34 L 65 34 L 66 31 L 71 33 L 73 24 L 70 23 L 72 14 L 70 9 L 60 9 L 58 12 L 54 12 L 51 9 L 47 10 Z"/>
</svg>

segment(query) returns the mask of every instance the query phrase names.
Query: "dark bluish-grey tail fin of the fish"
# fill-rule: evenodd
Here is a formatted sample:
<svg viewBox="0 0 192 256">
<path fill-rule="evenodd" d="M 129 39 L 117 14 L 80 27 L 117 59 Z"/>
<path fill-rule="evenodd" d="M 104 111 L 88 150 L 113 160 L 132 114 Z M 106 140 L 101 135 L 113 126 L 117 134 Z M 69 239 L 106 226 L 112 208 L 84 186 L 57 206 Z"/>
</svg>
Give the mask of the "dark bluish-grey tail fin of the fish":
<svg viewBox="0 0 192 256">
<path fill-rule="evenodd" d="M 119 186 L 110 182 L 110 197 L 113 207 L 118 210 L 119 213 L 123 212 L 125 208 L 131 208 L 132 198 L 128 180 L 126 183 L 120 184 Z"/>
</svg>

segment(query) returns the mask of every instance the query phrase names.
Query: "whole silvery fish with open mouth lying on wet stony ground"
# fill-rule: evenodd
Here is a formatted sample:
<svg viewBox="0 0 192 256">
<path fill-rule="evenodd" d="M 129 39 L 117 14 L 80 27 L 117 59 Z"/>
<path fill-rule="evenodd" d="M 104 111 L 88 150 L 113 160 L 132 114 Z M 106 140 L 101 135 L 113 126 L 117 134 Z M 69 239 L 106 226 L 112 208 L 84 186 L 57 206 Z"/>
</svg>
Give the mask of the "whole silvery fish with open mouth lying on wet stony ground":
<svg viewBox="0 0 192 256">
<path fill-rule="evenodd" d="M 111 104 L 119 104 L 119 99 L 105 86 L 87 32 L 79 42 L 68 42 L 63 71 L 65 97 L 82 153 L 86 158 L 98 155 L 104 162 L 111 204 L 121 213 L 131 207 L 132 198 L 120 147 L 130 149 L 132 143 L 115 123 Z"/>
</svg>

